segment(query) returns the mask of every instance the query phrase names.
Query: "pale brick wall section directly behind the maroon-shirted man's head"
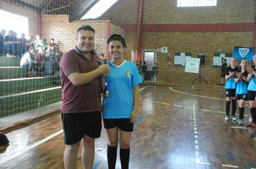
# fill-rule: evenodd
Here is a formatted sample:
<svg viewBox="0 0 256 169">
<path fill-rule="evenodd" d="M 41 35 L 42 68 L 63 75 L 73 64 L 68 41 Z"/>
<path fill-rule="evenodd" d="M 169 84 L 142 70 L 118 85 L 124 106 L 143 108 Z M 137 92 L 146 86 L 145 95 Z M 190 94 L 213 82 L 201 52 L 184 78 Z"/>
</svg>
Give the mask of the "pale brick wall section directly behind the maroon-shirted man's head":
<svg viewBox="0 0 256 169">
<path fill-rule="evenodd" d="M 55 39 L 60 51 L 65 53 L 76 46 L 77 29 L 83 25 L 91 25 L 95 29 L 96 54 L 106 55 L 106 31 L 109 21 L 72 21 L 68 22 L 68 15 L 42 15 L 42 37 Z"/>
</svg>

